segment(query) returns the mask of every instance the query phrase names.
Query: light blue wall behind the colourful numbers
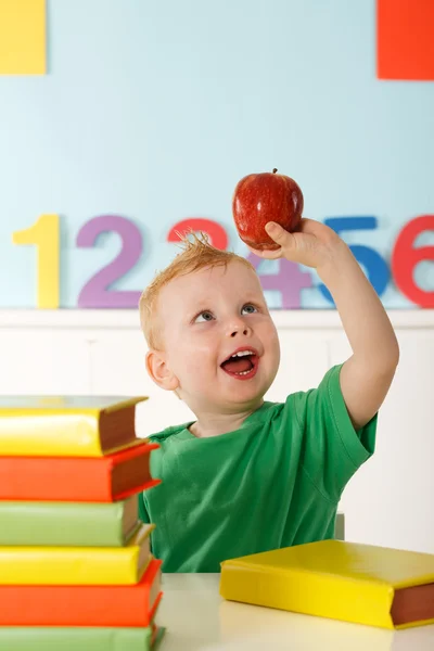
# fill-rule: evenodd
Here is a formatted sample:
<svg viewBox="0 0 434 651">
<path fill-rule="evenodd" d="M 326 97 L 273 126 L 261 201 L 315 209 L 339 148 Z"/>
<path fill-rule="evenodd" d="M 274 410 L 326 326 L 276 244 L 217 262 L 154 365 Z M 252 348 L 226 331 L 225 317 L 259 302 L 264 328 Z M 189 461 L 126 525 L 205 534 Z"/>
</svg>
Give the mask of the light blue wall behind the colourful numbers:
<svg viewBox="0 0 434 651">
<path fill-rule="evenodd" d="M 315 219 L 376 216 L 347 241 L 386 258 L 405 222 L 434 213 L 434 82 L 375 78 L 373 0 L 49 0 L 48 13 L 49 74 L 0 77 L 0 307 L 35 306 L 35 248 L 11 233 L 42 213 L 62 215 L 63 307 L 119 250 L 113 234 L 75 247 L 97 215 L 143 233 L 118 289 L 170 259 L 183 217 L 222 222 L 245 253 L 231 194 L 252 171 L 295 178 Z M 419 276 L 433 289 L 429 264 Z M 410 306 L 392 284 L 383 302 Z M 329 306 L 316 290 L 303 303 Z"/>
</svg>

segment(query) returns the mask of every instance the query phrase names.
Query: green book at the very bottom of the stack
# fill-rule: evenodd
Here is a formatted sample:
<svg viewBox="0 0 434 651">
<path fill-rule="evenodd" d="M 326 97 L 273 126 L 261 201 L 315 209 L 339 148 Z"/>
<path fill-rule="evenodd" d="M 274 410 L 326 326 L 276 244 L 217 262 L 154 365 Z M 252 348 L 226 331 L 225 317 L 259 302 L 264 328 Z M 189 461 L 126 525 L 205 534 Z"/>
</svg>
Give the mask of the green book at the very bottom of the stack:
<svg viewBox="0 0 434 651">
<path fill-rule="evenodd" d="M 156 651 L 165 629 L 0 626 L 4 651 Z"/>
</svg>

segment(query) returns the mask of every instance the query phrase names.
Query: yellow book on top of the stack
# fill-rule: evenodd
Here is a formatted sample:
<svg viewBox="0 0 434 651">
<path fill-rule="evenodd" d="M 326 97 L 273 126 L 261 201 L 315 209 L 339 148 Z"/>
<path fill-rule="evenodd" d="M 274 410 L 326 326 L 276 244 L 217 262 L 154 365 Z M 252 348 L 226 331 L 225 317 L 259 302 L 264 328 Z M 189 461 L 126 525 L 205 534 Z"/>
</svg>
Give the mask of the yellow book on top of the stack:
<svg viewBox="0 0 434 651">
<path fill-rule="evenodd" d="M 0 396 L 0 456 L 103 457 L 140 444 L 145 397 Z"/>
</svg>

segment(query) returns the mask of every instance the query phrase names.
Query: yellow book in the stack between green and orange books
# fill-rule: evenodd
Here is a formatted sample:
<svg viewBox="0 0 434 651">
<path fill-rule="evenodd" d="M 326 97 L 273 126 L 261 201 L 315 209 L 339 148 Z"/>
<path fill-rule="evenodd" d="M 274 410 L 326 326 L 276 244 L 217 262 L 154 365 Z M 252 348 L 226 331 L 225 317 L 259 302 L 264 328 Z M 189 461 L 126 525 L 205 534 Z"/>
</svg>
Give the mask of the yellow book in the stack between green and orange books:
<svg viewBox="0 0 434 651">
<path fill-rule="evenodd" d="M 126 547 L 0 547 L 0 585 L 130 585 L 151 560 L 143 524 Z"/>
</svg>

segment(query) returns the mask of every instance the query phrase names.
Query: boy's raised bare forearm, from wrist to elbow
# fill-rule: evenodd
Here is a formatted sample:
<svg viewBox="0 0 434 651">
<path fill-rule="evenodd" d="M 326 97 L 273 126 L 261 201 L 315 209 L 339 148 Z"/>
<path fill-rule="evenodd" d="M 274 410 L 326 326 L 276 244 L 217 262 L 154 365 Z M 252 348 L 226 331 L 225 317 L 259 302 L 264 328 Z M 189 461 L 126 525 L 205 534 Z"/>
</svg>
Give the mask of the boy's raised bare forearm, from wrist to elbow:
<svg viewBox="0 0 434 651">
<path fill-rule="evenodd" d="M 333 296 L 354 356 L 372 368 L 396 367 L 398 344 L 384 307 L 343 242 L 318 273 Z"/>
</svg>

